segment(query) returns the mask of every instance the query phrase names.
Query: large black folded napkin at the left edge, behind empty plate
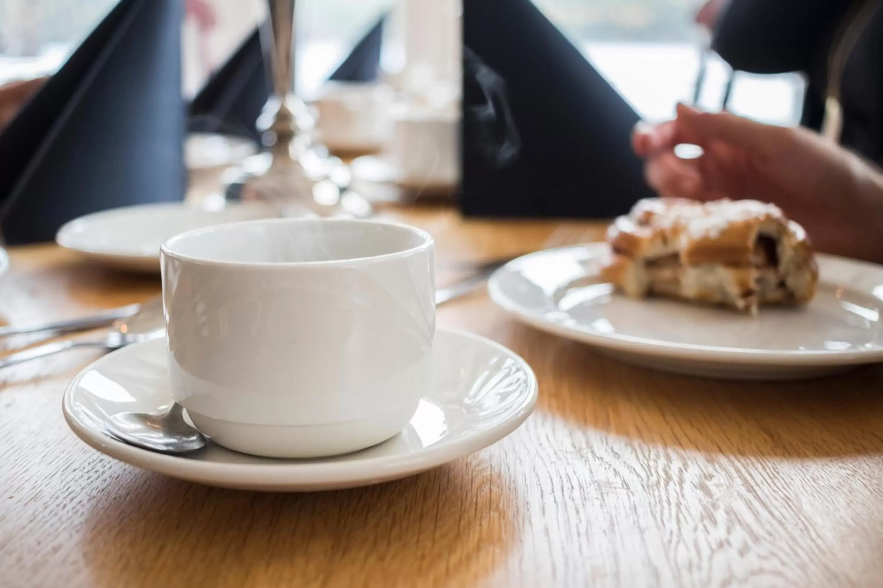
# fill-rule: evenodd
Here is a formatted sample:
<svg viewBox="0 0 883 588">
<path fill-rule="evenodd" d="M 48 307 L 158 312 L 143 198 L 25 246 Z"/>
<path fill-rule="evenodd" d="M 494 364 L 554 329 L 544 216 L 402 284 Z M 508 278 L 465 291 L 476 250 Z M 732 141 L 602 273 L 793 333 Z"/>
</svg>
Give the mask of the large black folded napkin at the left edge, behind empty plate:
<svg viewBox="0 0 883 588">
<path fill-rule="evenodd" d="M 6 242 L 184 196 L 180 0 L 121 0 L 0 135 Z"/>
</svg>

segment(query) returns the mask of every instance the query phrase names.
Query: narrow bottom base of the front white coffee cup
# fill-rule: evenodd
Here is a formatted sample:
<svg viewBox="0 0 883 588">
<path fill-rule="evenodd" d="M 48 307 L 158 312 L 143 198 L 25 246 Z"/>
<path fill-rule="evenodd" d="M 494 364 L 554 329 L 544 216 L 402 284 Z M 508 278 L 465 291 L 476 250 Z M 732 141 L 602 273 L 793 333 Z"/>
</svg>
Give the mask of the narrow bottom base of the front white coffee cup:
<svg viewBox="0 0 883 588">
<path fill-rule="evenodd" d="M 355 421 L 322 425 L 255 425 L 187 411 L 200 433 L 227 449 L 265 458 L 328 458 L 394 437 L 411 421 L 419 399 Z"/>
</svg>

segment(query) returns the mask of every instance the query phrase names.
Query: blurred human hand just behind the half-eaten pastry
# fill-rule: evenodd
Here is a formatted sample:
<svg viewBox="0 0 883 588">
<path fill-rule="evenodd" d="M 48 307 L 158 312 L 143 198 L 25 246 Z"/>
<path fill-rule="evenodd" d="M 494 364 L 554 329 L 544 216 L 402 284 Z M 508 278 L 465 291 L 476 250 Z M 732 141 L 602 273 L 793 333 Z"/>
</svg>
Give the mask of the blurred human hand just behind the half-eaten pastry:
<svg viewBox="0 0 883 588">
<path fill-rule="evenodd" d="M 681 159 L 679 144 L 704 153 Z M 771 202 L 803 225 L 817 249 L 883 262 L 883 176 L 810 130 L 679 105 L 674 121 L 639 123 L 632 147 L 662 197 Z"/>
</svg>

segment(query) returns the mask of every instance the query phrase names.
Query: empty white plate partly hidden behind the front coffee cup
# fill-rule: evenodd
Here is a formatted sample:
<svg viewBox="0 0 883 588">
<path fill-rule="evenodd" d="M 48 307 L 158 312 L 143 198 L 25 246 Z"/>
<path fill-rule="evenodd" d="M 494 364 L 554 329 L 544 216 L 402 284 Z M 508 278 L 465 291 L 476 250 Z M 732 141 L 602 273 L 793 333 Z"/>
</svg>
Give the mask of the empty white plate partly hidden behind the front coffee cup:
<svg viewBox="0 0 883 588">
<path fill-rule="evenodd" d="M 102 264 L 160 271 L 160 245 L 178 233 L 236 220 L 279 216 L 267 205 L 230 204 L 208 211 L 180 202 L 124 206 L 94 212 L 58 229 L 56 242 Z"/>
</svg>

